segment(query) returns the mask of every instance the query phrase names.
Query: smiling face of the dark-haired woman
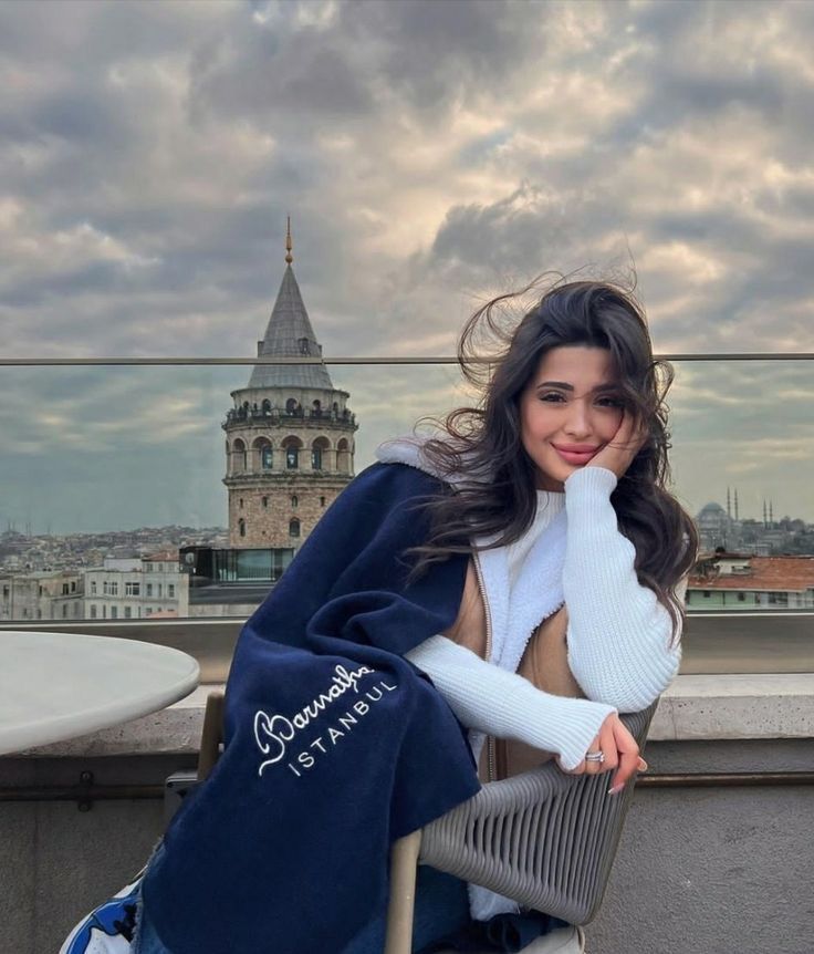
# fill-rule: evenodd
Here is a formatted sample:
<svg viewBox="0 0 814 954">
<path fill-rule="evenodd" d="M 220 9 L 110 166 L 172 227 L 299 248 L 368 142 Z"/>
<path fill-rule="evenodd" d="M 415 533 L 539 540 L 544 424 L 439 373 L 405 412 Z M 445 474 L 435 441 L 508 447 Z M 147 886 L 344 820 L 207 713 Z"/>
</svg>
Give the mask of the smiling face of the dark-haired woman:
<svg viewBox="0 0 814 954">
<path fill-rule="evenodd" d="M 623 404 L 604 348 L 552 348 L 520 397 L 521 440 L 540 490 L 562 490 L 616 434 Z"/>
</svg>

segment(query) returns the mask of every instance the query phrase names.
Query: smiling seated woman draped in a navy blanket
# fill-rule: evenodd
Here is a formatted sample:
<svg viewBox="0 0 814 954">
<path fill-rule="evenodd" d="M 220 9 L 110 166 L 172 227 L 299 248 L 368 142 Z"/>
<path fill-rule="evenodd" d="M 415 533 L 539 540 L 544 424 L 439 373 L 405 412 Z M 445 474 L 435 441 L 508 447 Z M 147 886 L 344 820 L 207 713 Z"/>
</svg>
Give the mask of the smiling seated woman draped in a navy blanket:
<svg viewBox="0 0 814 954">
<path fill-rule="evenodd" d="M 465 330 L 470 380 L 497 303 Z M 246 625 L 225 754 L 149 864 L 136 954 L 380 952 L 388 847 L 477 791 L 483 734 L 613 772 L 608 797 L 644 765 L 617 713 L 678 667 L 696 549 L 664 486 L 669 369 L 604 283 L 553 288 L 507 341 L 482 404 L 386 445 Z M 563 605 L 582 698 L 515 674 Z M 531 952 L 557 926 L 421 869 L 416 951 Z"/>
</svg>

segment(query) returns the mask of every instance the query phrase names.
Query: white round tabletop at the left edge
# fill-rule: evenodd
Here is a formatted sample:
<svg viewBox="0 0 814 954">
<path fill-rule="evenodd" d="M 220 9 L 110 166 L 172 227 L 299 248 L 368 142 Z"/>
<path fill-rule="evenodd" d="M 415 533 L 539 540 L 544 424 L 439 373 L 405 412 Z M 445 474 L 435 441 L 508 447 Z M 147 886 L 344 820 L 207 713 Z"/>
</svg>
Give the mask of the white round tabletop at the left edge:
<svg viewBox="0 0 814 954">
<path fill-rule="evenodd" d="M 197 661 L 168 646 L 0 631 L 0 755 L 147 715 L 197 685 Z"/>
</svg>

